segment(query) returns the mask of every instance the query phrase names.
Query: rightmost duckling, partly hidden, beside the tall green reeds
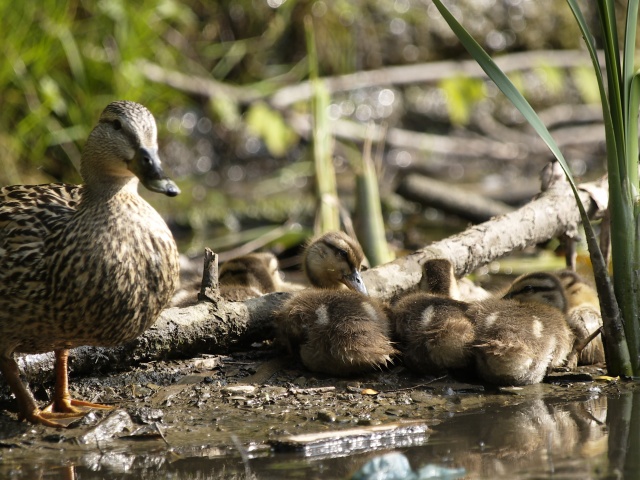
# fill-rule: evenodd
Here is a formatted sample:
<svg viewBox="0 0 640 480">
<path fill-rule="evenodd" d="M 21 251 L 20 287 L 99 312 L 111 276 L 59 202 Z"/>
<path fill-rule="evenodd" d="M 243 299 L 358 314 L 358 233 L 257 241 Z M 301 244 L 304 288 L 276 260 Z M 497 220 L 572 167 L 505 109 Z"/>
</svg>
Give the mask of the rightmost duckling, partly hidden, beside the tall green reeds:
<svg viewBox="0 0 640 480">
<path fill-rule="evenodd" d="M 567 323 L 576 337 L 578 365 L 605 362 L 602 337 L 602 315 L 598 294 L 584 279 L 571 270 L 556 274 L 564 287 L 568 301 Z M 592 337 L 596 334 L 595 337 Z"/>
</svg>

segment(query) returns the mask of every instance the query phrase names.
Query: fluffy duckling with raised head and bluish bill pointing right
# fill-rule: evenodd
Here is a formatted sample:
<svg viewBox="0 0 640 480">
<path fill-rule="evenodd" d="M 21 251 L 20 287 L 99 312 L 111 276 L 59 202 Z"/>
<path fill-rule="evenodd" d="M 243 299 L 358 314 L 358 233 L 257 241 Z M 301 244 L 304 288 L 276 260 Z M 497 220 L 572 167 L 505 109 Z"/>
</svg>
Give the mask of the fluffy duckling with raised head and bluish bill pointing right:
<svg viewBox="0 0 640 480">
<path fill-rule="evenodd" d="M 321 288 L 294 293 L 275 312 L 280 343 L 299 352 L 311 371 L 362 373 L 386 365 L 396 353 L 384 309 L 364 294 L 363 259 L 360 246 L 342 232 L 313 241 L 304 254 L 305 273 Z"/>
</svg>

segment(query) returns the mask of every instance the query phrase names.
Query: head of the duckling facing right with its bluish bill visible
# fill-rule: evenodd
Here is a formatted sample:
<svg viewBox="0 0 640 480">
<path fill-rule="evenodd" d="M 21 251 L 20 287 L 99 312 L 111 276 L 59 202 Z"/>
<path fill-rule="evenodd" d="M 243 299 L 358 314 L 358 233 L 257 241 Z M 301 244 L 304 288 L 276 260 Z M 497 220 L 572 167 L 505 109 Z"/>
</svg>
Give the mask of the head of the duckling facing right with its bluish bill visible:
<svg viewBox="0 0 640 480">
<path fill-rule="evenodd" d="M 364 253 L 358 243 L 343 232 L 329 232 L 305 249 L 303 267 L 309 282 L 319 288 L 340 288 L 367 294 L 360 275 Z"/>
</svg>

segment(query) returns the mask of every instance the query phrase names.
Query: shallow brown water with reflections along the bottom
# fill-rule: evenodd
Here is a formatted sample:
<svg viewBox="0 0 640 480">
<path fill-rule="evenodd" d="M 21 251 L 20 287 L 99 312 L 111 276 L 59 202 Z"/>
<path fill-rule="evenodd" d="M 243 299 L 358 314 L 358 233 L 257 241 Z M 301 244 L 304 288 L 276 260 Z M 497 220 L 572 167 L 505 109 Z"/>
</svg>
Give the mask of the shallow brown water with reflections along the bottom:
<svg viewBox="0 0 640 480">
<path fill-rule="evenodd" d="M 455 414 L 435 425 L 424 445 L 395 450 L 404 453 L 414 469 L 426 464 L 463 467 L 469 479 L 634 478 L 640 472 L 639 421 L 640 392 L 595 394 L 580 401 L 526 398 L 517 405 Z M 147 441 L 127 448 L 120 444 L 111 451 L 60 449 L 53 456 L 52 449 L 38 452 L 37 459 L 18 459 L 5 448 L 0 450 L 0 477 L 349 478 L 371 458 L 391 451 L 305 457 L 273 452 L 264 443 L 245 445 L 242 454 L 238 448 L 204 443 L 199 448 L 172 447 Z"/>
</svg>

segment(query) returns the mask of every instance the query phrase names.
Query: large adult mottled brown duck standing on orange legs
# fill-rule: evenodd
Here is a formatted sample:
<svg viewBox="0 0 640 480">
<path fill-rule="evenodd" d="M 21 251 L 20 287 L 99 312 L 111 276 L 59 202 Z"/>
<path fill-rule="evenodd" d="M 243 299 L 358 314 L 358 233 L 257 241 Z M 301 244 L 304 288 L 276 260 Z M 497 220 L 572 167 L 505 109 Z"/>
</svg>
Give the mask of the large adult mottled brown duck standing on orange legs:
<svg viewBox="0 0 640 480">
<path fill-rule="evenodd" d="M 151 326 L 178 282 L 178 250 L 138 183 L 173 197 L 162 171 L 153 115 L 128 101 L 109 104 L 81 157 L 83 185 L 0 189 L 0 370 L 19 416 L 56 419 L 101 405 L 71 399 L 68 349 L 112 346 Z M 40 410 L 14 352 L 55 352 L 53 404 Z"/>
</svg>

